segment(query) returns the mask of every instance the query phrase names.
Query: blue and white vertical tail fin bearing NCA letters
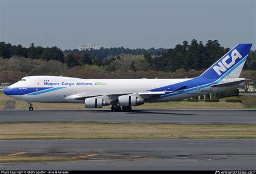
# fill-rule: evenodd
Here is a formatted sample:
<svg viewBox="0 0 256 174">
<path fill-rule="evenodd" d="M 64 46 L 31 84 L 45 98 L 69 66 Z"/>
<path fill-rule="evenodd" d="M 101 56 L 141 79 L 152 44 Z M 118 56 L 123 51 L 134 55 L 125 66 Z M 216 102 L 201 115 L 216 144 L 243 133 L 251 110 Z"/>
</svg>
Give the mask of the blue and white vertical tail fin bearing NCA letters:
<svg viewBox="0 0 256 174">
<path fill-rule="evenodd" d="M 239 78 L 252 44 L 238 44 L 208 68 L 199 78 Z"/>
</svg>

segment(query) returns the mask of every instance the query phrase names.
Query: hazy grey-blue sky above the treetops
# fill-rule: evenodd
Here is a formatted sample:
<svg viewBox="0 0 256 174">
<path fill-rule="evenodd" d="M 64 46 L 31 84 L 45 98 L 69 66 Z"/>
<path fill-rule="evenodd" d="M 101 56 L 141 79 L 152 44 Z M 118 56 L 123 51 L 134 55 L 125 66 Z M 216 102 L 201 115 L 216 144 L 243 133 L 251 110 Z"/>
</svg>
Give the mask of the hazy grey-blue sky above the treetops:
<svg viewBox="0 0 256 174">
<path fill-rule="evenodd" d="M 217 39 L 225 47 L 253 43 L 256 49 L 255 0 L 0 2 L 0 40 L 12 45 L 172 48 Z"/>
</svg>

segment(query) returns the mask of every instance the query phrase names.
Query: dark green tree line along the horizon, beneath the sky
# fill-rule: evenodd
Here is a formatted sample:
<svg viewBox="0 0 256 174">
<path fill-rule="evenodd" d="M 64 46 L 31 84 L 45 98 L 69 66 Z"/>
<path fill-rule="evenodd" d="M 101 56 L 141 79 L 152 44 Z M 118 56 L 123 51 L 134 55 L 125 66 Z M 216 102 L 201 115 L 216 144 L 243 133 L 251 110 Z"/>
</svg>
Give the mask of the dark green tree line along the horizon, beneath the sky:
<svg viewBox="0 0 256 174">
<path fill-rule="evenodd" d="M 0 42 L 0 57 L 12 56 L 41 60 L 57 60 L 68 67 L 96 65 L 104 66 L 108 71 L 116 71 L 120 67 L 126 71 L 154 71 L 175 72 L 178 69 L 206 69 L 222 57 L 230 48 L 224 48 L 218 40 L 203 42 L 193 39 L 191 43 L 183 41 L 174 48 L 150 48 L 148 50 L 137 48 L 100 48 L 100 50 L 65 50 L 53 47 L 41 47 L 31 44 L 29 48 L 21 45 L 11 45 Z M 126 55 L 123 56 L 122 55 Z M 133 59 L 138 55 L 137 59 Z M 142 57 L 143 55 L 143 57 Z M 122 66 L 121 64 L 125 65 Z M 138 66 L 139 65 L 139 66 Z M 256 53 L 251 51 L 248 55 L 244 69 L 256 70 Z"/>
</svg>

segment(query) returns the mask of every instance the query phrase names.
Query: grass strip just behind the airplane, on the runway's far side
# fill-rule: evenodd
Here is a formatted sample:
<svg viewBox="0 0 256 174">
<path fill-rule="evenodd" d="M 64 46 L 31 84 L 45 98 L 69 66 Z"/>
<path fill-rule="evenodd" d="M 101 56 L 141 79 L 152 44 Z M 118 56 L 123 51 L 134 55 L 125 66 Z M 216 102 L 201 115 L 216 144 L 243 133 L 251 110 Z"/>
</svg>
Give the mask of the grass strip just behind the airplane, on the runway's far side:
<svg viewBox="0 0 256 174">
<path fill-rule="evenodd" d="M 220 102 L 187 102 L 187 101 L 171 101 L 161 103 L 145 103 L 144 105 L 133 107 L 133 109 L 245 109 L 256 108 L 256 95 L 245 95 L 240 97 L 242 103 L 226 103 L 225 99 L 220 99 Z M 6 102 L 15 101 L 14 109 L 28 109 L 29 105 L 26 101 L 12 99 L 9 96 L 0 93 L 0 109 L 5 109 Z M 110 109 L 111 106 L 103 107 L 103 109 Z M 84 104 L 78 103 L 37 103 L 33 102 L 33 108 L 38 109 L 85 109 Z"/>
</svg>

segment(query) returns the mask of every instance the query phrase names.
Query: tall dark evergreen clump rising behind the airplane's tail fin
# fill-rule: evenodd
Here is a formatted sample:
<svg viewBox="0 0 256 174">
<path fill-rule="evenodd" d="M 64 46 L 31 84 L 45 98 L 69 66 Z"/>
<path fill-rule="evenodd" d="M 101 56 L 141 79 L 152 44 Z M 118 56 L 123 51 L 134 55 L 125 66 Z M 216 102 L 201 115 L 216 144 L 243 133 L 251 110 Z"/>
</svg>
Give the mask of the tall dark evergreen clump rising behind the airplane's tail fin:
<svg viewBox="0 0 256 174">
<path fill-rule="evenodd" d="M 191 44 L 183 41 L 174 48 L 167 49 L 159 57 L 152 58 L 151 54 L 145 53 L 144 58 L 150 64 L 150 68 L 156 71 L 175 72 L 178 69 L 206 69 L 214 62 L 223 57 L 230 48 L 220 46 L 218 40 L 203 42 L 193 39 Z M 251 51 L 248 55 L 244 69 L 256 70 L 256 54 Z"/>
</svg>

